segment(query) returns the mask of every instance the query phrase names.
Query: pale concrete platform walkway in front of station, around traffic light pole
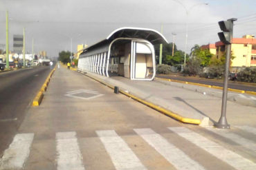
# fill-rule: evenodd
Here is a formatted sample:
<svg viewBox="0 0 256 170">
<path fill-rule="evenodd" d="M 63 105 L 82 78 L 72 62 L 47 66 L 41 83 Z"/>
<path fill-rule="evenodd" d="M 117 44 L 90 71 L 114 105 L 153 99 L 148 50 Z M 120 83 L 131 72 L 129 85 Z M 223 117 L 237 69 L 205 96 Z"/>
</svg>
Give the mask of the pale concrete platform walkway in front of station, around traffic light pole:
<svg viewBox="0 0 256 170">
<path fill-rule="evenodd" d="M 129 92 L 129 94 L 173 111 L 185 118 L 200 119 L 202 126 L 213 125 L 219 120 L 221 115 L 220 97 L 222 91 L 219 89 L 208 89 L 211 92 L 207 91 L 208 94 L 218 94 L 219 97 L 217 97 L 214 95 L 205 95 L 206 93 L 203 93 L 206 92 L 205 90 L 207 88 L 205 87 L 196 87 L 196 90 L 194 90 L 193 85 L 184 85 L 181 83 L 168 84 L 169 82 L 160 81 L 130 81 L 128 78 L 120 76 L 107 78 L 92 73 L 87 73 L 86 75 L 100 78 L 105 83 L 118 86 L 120 89 Z M 201 90 L 201 92 L 198 92 L 199 90 Z M 232 92 L 228 96 L 232 95 L 239 96 L 241 94 Z M 231 98 L 231 100 L 234 100 L 233 98 Z M 240 100 L 240 98 L 236 100 Z M 243 101 L 248 100 L 243 99 Z M 253 99 L 250 101 L 252 101 L 252 103 L 255 102 Z M 231 126 L 255 125 L 256 107 L 228 101 L 226 113 L 228 123 Z"/>
</svg>

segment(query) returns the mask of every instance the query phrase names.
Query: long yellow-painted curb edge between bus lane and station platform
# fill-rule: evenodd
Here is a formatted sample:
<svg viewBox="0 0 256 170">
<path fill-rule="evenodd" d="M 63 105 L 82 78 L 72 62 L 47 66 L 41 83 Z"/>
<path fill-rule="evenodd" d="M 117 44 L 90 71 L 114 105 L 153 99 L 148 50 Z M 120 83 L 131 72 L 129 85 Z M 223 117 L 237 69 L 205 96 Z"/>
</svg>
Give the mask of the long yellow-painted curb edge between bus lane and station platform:
<svg viewBox="0 0 256 170">
<path fill-rule="evenodd" d="M 107 87 L 110 87 L 111 89 L 114 89 L 113 85 L 109 85 L 108 83 L 105 83 L 104 81 L 101 81 L 99 78 L 95 78 L 93 76 L 89 76 L 88 74 L 84 74 L 85 76 L 88 76 L 89 78 L 92 78 L 95 81 L 98 81 L 99 83 L 102 83 L 103 85 L 107 85 Z M 137 96 L 134 96 L 132 94 L 129 94 L 128 92 L 125 92 L 122 89 L 119 89 L 119 92 L 121 94 L 125 94 L 125 96 L 128 96 L 130 98 L 133 98 L 134 100 L 137 100 L 140 103 L 143 103 L 144 105 L 147 105 L 148 107 L 151 107 L 152 109 L 155 109 L 156 111 L 161 112 L 162 114 L 165 114 L 166 116 L 169 116 L 171 118 L 174 118 L 175 120 L 179 120 L 181 123 L 189 123 L 194 125 L 200 125 L 201 120 L 194 119 L 194 118 L 184 118 L 183 116 L 180 116 L 179 114 L 175 114 L 174 112 L 164 109 L 163 107 L 160 107 L 158 105 L 155 105 L 154 103 L 148 102 L 146 100 L 143 100 Z"/>
</svg>

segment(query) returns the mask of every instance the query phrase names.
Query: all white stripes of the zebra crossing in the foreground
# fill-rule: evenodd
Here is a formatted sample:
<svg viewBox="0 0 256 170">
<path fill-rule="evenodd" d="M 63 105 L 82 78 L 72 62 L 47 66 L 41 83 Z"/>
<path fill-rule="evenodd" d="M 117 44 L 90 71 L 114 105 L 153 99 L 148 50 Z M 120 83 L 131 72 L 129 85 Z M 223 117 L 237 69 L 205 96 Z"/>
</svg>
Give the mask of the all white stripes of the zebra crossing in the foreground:
<svg viewBox="0 0 256 170">
<path fill-rule="evenodd" d="M 247 148 L 248 146 L 256 146 L 255 141 L 246 140 L 230 131 L 207 129 L 230 140 L 235 140 L 234 142 L 237 142 L 241 147 Z M 243 130 L 246 131 L 246 129 L 250 128 L 246 127 Z M 172 144 L 172 142 L 162 134 L 156 133 L 153 129 L 133 129 L 133 131 L 135 135 L 145 141 L 145 144 L 149 145 L 150 149 L 159 153 L 163 159 L 167 160 L 175 169 L 208 169 L 202 162 L 196 161 L 192 156 L 189 156 L 189 154 Z M 206 151 L 211 156 L 225 162 L 230 166 L 230 169 L 256 169 L 255 160 L 244 158 L 239 155 L 239 153 L 223 147 L 219 142 L 214 142 L 187 127 L 167 127 L 167 131 L 180 136 L 184 140 L 196 145 L 199 149 Z M 255 135 L 252 133 L 251 129 L 247 132 Z M 115 169 L 149 169 L 143 163 L 142 159 L 136 155 L 134 149 L 129 147 L 125 138 L 119 136 L 115 130 L 98 130 L 95 131 L 95 134 L 97 136 L 96 138 L 98 138 L 102 146 L 104 146 Z M 29 160 L 30 150 L 35 136 L 36 134 L 17 134 L 0 159 L 0 170 L 24 169 L 26 162 Z M 83 154 L 89 153 L 83 153 L 80 149 L 82 146 L 79 140 L 80 138 L 75 131 L 57 132 L 55 134 L 55 169 L 86 169 L 86 160 L 83 160 Z M 245 142 L 248 142 L 248 145 L 246 145 Z M 256 154 L 255 149 L 251 151 Z"/>
</svg>

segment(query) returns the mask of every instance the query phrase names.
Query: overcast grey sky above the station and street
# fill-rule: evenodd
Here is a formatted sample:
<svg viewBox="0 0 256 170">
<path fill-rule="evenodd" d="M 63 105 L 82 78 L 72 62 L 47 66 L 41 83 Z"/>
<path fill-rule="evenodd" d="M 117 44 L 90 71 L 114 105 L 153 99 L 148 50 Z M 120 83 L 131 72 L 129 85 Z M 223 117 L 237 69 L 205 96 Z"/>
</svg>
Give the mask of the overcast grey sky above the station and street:
<svg viewBox="0 0 256 170">
<path fill-rule="evenodd" d="M 209 3 L 205 5 L 204 3 Z M 189 10 L 188 17 L 185 12 Z M 13 34 L 26 28 L 26 46 L 57 56 L 78 43 L 93 44 L 124 26 L 161 30 L 172 42 L 176 33 L 178 49 L 185 50 L 185 23 L 188 47 L 219 41 L 218 21 L 237 17 L 234 36 L 256 34 L 256 0 L 0 0 L 0 44 L 6 42 L 5 11 L 10 17 L 10 50 Z M 1 47 L 1 46 L 0 46 Z"/>
</svg>

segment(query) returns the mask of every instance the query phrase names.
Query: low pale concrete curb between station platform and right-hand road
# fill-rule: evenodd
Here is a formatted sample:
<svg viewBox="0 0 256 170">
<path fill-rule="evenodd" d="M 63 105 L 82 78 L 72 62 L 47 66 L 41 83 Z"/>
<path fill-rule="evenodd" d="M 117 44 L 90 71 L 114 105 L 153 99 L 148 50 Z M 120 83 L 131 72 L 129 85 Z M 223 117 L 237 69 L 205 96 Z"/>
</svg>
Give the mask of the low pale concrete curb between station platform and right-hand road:
<svg viewBox="0 0 256 170">
<path fill-rule="evenodd" d="M 170 79 L 166 79 L 166 78 L 156 78 L 155 79 L 158 82 L 164 83 L 166 85 L 174 85 L 175 87 L 181 87 L 184 89 L 189 89 L 191 91 L 194 92 L 199 92 L 201 94 L 205 94 L 205 95 L 210 95 L 210 96 L 214 96 L 217 98 L 222 98 L 222 87 L 218 87 L 218 86 L 212 86 L 211 88 L 209 87 L 204 87 L 203 85 L 193 85 L 192 83 L 184 83 L 183 82 L 177 82 L 177 81 L 169 81 Z M 221 91 L 218 91 L 217 89 L 221 89 Z M 246 106 L 252 106 L 252 107 L 256 107 L 256 100 L 253 100 L 252 98 L 246 98 L 244 96 L 244 94 L 250 94 L 250 92 L 245 92 L 244 94 L 241 93 L 240 91 L 242 90 L 230 90 L 230 92 L 235 92 L 235 93 L 228 93 L 228 100 L 232 101 L 232 102 L 236 102 L 239 103 L 241 105 L 246 105 Z M 255 92 L 253 92 L 252 94 L 254 94 Z M 256 94 L 256 93 L 255 93 Z"/>
</svg>

